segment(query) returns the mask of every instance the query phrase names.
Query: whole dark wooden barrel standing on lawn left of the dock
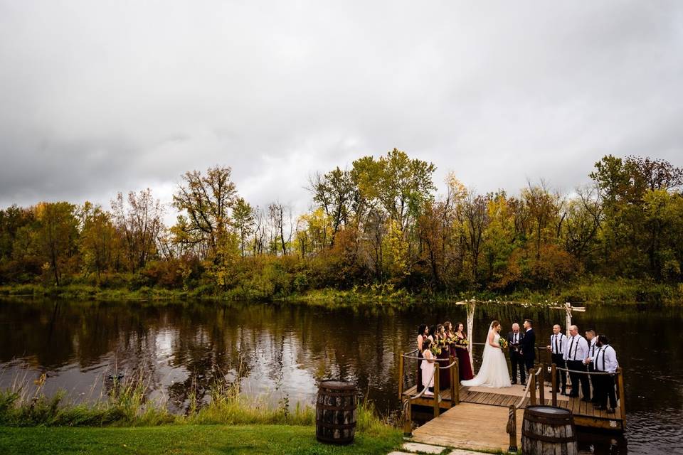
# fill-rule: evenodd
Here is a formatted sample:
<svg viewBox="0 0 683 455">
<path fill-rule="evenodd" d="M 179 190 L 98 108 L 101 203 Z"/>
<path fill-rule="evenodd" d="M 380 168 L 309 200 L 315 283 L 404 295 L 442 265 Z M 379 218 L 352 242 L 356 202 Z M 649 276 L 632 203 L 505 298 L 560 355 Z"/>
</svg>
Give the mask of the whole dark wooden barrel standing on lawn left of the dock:
<svg viewBox="0 0 683 455">
<path fill-rule="evenodd" d="M 356 434 L 358 393 L 350 382 L 320 382 L 315 405 L 315 436 L 318 441 L 350 444 Z"/>
</svg>

